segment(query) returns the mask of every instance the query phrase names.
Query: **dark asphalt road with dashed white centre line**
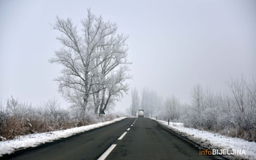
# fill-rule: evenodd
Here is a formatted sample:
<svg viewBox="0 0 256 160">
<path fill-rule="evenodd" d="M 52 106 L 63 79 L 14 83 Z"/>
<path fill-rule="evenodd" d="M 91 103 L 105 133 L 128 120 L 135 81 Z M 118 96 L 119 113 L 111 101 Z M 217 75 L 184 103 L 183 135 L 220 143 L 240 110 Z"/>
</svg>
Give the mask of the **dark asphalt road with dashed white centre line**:
<svg viewBox="0 0 256 160">
<path fill-rule="evenodd" d="M 199 155 L 199 149 L 193 143 L 147 118 L 127 118 L 106 127 L 5 155 L 0 159 L 99 159 L 102 155 L 107 156 L 106 159 L 129 160 L 218 159 Z"/>
</svg>

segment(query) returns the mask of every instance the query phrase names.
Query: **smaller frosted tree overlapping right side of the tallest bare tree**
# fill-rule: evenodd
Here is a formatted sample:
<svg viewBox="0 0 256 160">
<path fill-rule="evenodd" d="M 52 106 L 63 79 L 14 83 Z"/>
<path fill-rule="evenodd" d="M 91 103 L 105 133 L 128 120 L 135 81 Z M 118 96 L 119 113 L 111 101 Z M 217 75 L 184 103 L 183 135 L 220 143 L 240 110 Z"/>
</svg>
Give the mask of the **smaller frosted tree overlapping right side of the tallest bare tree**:
<svg viewBox="0 0 256 160">
<path fill-rule="evenodd" d="M 127 63 L 127 45 L 125 43 L 127 38 L 127 36 L 119 35 L 117 38 L 112 38 L 111 42 L 114 42 L 112 46 L 103 48 L 105 53 L 99 59 L 104 60 L 104 62 L 98 68 L 99 78 L 95 82 L 95 87 L 92 87 L 95 113 L 97 113 L 99 107 L 100 110 L 105 110 L 111 97 L 119 96 L 117 93 L 122 93 L 122 91 L 126 93 L 128 90 L 128 85 L 123 85 L 125 80 L 132 78 L 132 76 L 127 75 L 128 65 L 130 64 Z M 106 52 L 106 50 L 108 51 Z M 97 60 L 97 62 L 102 60 Z M 113 90 L 114 86 L 119 86 L 119 89 Z"/>
</svg>

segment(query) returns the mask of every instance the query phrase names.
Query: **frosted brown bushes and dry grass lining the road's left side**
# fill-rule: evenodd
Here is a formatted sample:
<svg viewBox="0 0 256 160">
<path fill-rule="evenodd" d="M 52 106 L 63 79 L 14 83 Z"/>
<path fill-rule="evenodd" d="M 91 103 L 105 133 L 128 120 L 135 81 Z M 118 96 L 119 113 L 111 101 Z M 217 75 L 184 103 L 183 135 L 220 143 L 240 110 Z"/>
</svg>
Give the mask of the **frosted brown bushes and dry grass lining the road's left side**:
<svg viewBox="0 0 256 160">
<path fill-rule="evenodd" d="M 108 113 L 99 119 L 93 111 L 84 115 L 77 107 L 64 110 L 55 99 L 33 106 L 11 97 L 6 102 L 0 102 L 0 141 L 26 134 L 80 127 L 116 117 L 119 115 Z"/>
</svg>

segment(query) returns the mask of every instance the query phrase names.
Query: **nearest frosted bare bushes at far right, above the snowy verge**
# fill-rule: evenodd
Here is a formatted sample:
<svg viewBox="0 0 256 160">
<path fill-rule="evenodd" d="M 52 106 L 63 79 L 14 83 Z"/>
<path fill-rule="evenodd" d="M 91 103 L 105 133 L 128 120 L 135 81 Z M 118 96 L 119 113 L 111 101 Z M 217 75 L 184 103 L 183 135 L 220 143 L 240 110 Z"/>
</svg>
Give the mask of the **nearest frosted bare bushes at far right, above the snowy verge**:
<svg viewBox="0 0 256 160">
<path fill-rule="evenodd" d="M 245 78 L 227 82 L 230 93 L 224 97 L 213 95 L 206 88 L 194 87 L 200 92 L 192 92 L 193 105 L 183 116 L 186 127 L 220 132 L 231 137 L 239 137 L 256 142 L 256 80 L 251 83 Z M 195 91 L 195 90 L 193 90 Z"/>
</svg>

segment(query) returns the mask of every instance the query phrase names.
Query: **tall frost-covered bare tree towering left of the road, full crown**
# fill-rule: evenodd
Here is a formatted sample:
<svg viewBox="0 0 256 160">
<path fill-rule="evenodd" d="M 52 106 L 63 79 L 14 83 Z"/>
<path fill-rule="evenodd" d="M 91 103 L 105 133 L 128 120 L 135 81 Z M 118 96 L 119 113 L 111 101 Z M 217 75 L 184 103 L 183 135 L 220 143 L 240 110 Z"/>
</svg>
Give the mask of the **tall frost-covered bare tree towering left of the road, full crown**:
<svg viewBox="0 0 256 160">
<path fill-rule="evenodd" d="M 62 75 L 55 78 L 63 97 L 84 112 L 88 102 L 93 101 L 97 113 L 100 104 L 102 109 L 108 104 L 105 100 L 107 91 L 107 99 L 118 96 L 112 93 L 110 84 L 117 82 L 115 86 L 122 89 L 115 91 L 124 90 L 124 80 L 114 81 L 108 77 L 117 72 L 120 65 L 127 64 L 128 37 L 117 33 L 116 23 L 103 21 L 102 16 L 93 15 L 90 9 L 81 23 L 82 31 L 78 31 L 70 18 L 57 16 L 53 28 L 61 33 L 57 39 L 62 48 L 55 51 L 55 56 L 49 61 L 63 65 Z"/>
</svg>

